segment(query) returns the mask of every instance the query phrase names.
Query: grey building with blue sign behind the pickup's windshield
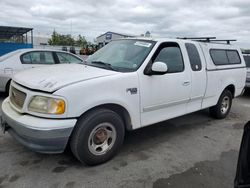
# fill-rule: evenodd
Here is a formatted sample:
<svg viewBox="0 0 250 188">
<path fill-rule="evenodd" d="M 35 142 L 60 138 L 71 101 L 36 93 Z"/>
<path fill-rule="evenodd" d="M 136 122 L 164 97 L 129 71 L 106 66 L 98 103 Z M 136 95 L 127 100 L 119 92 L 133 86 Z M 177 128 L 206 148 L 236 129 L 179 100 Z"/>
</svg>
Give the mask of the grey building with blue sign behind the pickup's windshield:
<svg viewBox="0 0 250 188">
<path fill-rule="evenodd" d="M 128 38 L 128 37 L 135 37 L 135 35 L 127 35 L 127 34 L 121 34 L 121 33 L 115 33 L 108 31 L 96 38 L 96 43 L 99 47 L 102 47 L 106 44 L 108 44 L 112 40 L 120 39 L 120 38 Z"/>
</svg>

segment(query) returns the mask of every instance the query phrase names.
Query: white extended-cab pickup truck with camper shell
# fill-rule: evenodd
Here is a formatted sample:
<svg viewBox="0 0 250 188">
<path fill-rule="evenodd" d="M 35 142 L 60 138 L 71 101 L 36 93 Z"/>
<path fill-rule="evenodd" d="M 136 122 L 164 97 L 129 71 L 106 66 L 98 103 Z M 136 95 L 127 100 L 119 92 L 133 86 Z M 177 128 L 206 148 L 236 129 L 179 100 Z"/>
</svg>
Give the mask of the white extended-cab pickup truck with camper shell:
<svg viewBox="0 0 250 188">
<path fill-rule="evenodd" d="M 182 39 L 122 39 L 85 64 L 17 73 L 2 126 L 43 153 L 67 145 L 89 165 L 111 159 L 125 131 L 210 108 L 225 118 L 246 81 L 238 47 Z"/>
</svg>

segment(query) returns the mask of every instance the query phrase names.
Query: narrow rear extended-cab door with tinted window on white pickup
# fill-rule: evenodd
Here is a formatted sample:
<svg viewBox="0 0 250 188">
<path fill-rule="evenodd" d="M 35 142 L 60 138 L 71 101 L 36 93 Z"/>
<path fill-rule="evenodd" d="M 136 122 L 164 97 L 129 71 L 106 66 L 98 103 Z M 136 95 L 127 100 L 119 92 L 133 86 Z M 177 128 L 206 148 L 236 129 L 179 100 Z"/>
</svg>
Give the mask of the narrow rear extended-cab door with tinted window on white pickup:
<svg viewBox="0 0 250 188">
<path fill-rule="evenodd" d="M 203 52 L 197 43 L 185 43 L 187 50 L 188 62 L 191 67 L 191 94 L 187 106 L 187 112 L 200 110 L 202 100 L 207 87 L 206 63 Z"/>
</svg>

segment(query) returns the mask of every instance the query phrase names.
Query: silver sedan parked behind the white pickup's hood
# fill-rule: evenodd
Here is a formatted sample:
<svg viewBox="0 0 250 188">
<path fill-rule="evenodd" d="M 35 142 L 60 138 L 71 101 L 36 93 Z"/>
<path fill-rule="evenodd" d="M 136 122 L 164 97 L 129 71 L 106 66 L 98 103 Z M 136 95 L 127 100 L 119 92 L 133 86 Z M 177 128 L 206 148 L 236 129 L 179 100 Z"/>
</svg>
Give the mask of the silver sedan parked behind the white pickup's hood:
<svg viewBox="0 0 250 188">
<path fill-rule="evenodd" d="M 1 56 L 0 92 L 8 93 L 13 74 L 19 71 L 61 63 L 83 63 L 83 60 L 68 52 L 39 49 L 22 49 Z"/>
</svg>

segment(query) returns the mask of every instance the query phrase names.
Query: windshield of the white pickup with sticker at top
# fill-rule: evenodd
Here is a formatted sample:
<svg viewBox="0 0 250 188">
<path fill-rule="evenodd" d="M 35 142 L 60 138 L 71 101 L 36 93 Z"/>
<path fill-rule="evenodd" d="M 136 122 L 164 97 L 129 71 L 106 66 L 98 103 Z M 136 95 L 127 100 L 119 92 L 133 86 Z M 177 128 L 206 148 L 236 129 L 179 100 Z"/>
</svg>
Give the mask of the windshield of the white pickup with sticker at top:
<svg viewBox="0 0 250 188">
<path fill-rule="evenodd" d="M 112 41 L 90 56 L 86 64 L 119 72 L 136 71 L 154 44 L 154 41 L 135 39 Z"/>
</svg>

